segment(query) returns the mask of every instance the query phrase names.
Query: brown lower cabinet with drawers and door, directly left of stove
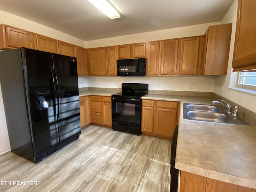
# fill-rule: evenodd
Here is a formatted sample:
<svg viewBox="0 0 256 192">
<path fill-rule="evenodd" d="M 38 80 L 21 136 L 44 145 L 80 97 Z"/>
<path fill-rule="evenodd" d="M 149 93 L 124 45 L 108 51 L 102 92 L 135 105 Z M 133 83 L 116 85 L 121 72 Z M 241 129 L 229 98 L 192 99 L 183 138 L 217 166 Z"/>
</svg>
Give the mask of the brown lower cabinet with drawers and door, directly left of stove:
<svg viewBox="0 0 256 192">
<path fill-rule="evenodd" d="M 92 123 L 111 128 L 111 97 L 110 96 L 91 96 L 91 117 Z"/>
</svg>

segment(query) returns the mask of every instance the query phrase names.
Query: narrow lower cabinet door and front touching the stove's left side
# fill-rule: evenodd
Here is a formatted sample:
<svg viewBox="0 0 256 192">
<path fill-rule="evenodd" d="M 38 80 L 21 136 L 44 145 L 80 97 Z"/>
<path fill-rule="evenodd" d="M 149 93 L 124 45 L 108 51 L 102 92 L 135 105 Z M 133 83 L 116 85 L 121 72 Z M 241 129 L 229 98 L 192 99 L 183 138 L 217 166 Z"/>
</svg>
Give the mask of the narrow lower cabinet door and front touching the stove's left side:
<svg viewBox="0 0 256 192">
<path fill-rule="evenodd" d="M 112 126 L 111 97 L 102 97 L 102 123 Z"/>
</svg>

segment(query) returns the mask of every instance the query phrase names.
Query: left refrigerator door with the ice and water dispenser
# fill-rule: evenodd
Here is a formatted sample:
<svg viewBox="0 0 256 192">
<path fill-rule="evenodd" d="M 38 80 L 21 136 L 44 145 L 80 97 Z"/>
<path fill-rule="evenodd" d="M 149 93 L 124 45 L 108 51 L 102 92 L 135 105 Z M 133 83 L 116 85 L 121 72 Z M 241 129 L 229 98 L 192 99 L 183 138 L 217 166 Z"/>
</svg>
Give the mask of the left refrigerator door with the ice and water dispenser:
<svg viewBox="0 0 256 192">
<path fill-rule="evenodd" d="M 59 146 L 58 121 L 55 118 L 56 100 L 50 66 L 52 54 L 24 49 L 26 81 L 34 135 L 35 159 L 48 156 Z M 25 63 L 25 62 L 24 62 Z"/>
</svg>

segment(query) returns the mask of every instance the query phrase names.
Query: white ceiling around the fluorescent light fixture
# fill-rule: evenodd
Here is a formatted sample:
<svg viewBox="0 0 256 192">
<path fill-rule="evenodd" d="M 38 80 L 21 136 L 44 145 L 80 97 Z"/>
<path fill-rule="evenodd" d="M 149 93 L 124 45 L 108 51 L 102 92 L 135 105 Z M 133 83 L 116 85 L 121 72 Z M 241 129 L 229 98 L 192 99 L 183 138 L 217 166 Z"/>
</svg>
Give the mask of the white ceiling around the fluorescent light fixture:
<svg viewBox="0 0 256 192">
<path fill-rule="evenodd" d="M 234 0 L 108 0 L 111 20 L 88 0 L 1 0 L 0 10 L 82 40 L 95 40 L 222 20 Z"/>
</svg>

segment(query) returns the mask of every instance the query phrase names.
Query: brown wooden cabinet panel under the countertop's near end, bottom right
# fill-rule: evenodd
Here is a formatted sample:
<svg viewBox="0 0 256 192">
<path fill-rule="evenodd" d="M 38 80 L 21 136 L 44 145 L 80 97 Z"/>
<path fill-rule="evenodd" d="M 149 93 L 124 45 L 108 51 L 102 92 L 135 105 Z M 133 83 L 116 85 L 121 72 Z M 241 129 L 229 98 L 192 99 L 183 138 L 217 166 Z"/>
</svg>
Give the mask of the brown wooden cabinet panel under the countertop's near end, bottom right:
<svg viewBox="0 0 256 192">
<path fill-rule="evenodd" d="M 181 171 L 180 192 L 256 192 L 256 189 Z"/>
</svg>

